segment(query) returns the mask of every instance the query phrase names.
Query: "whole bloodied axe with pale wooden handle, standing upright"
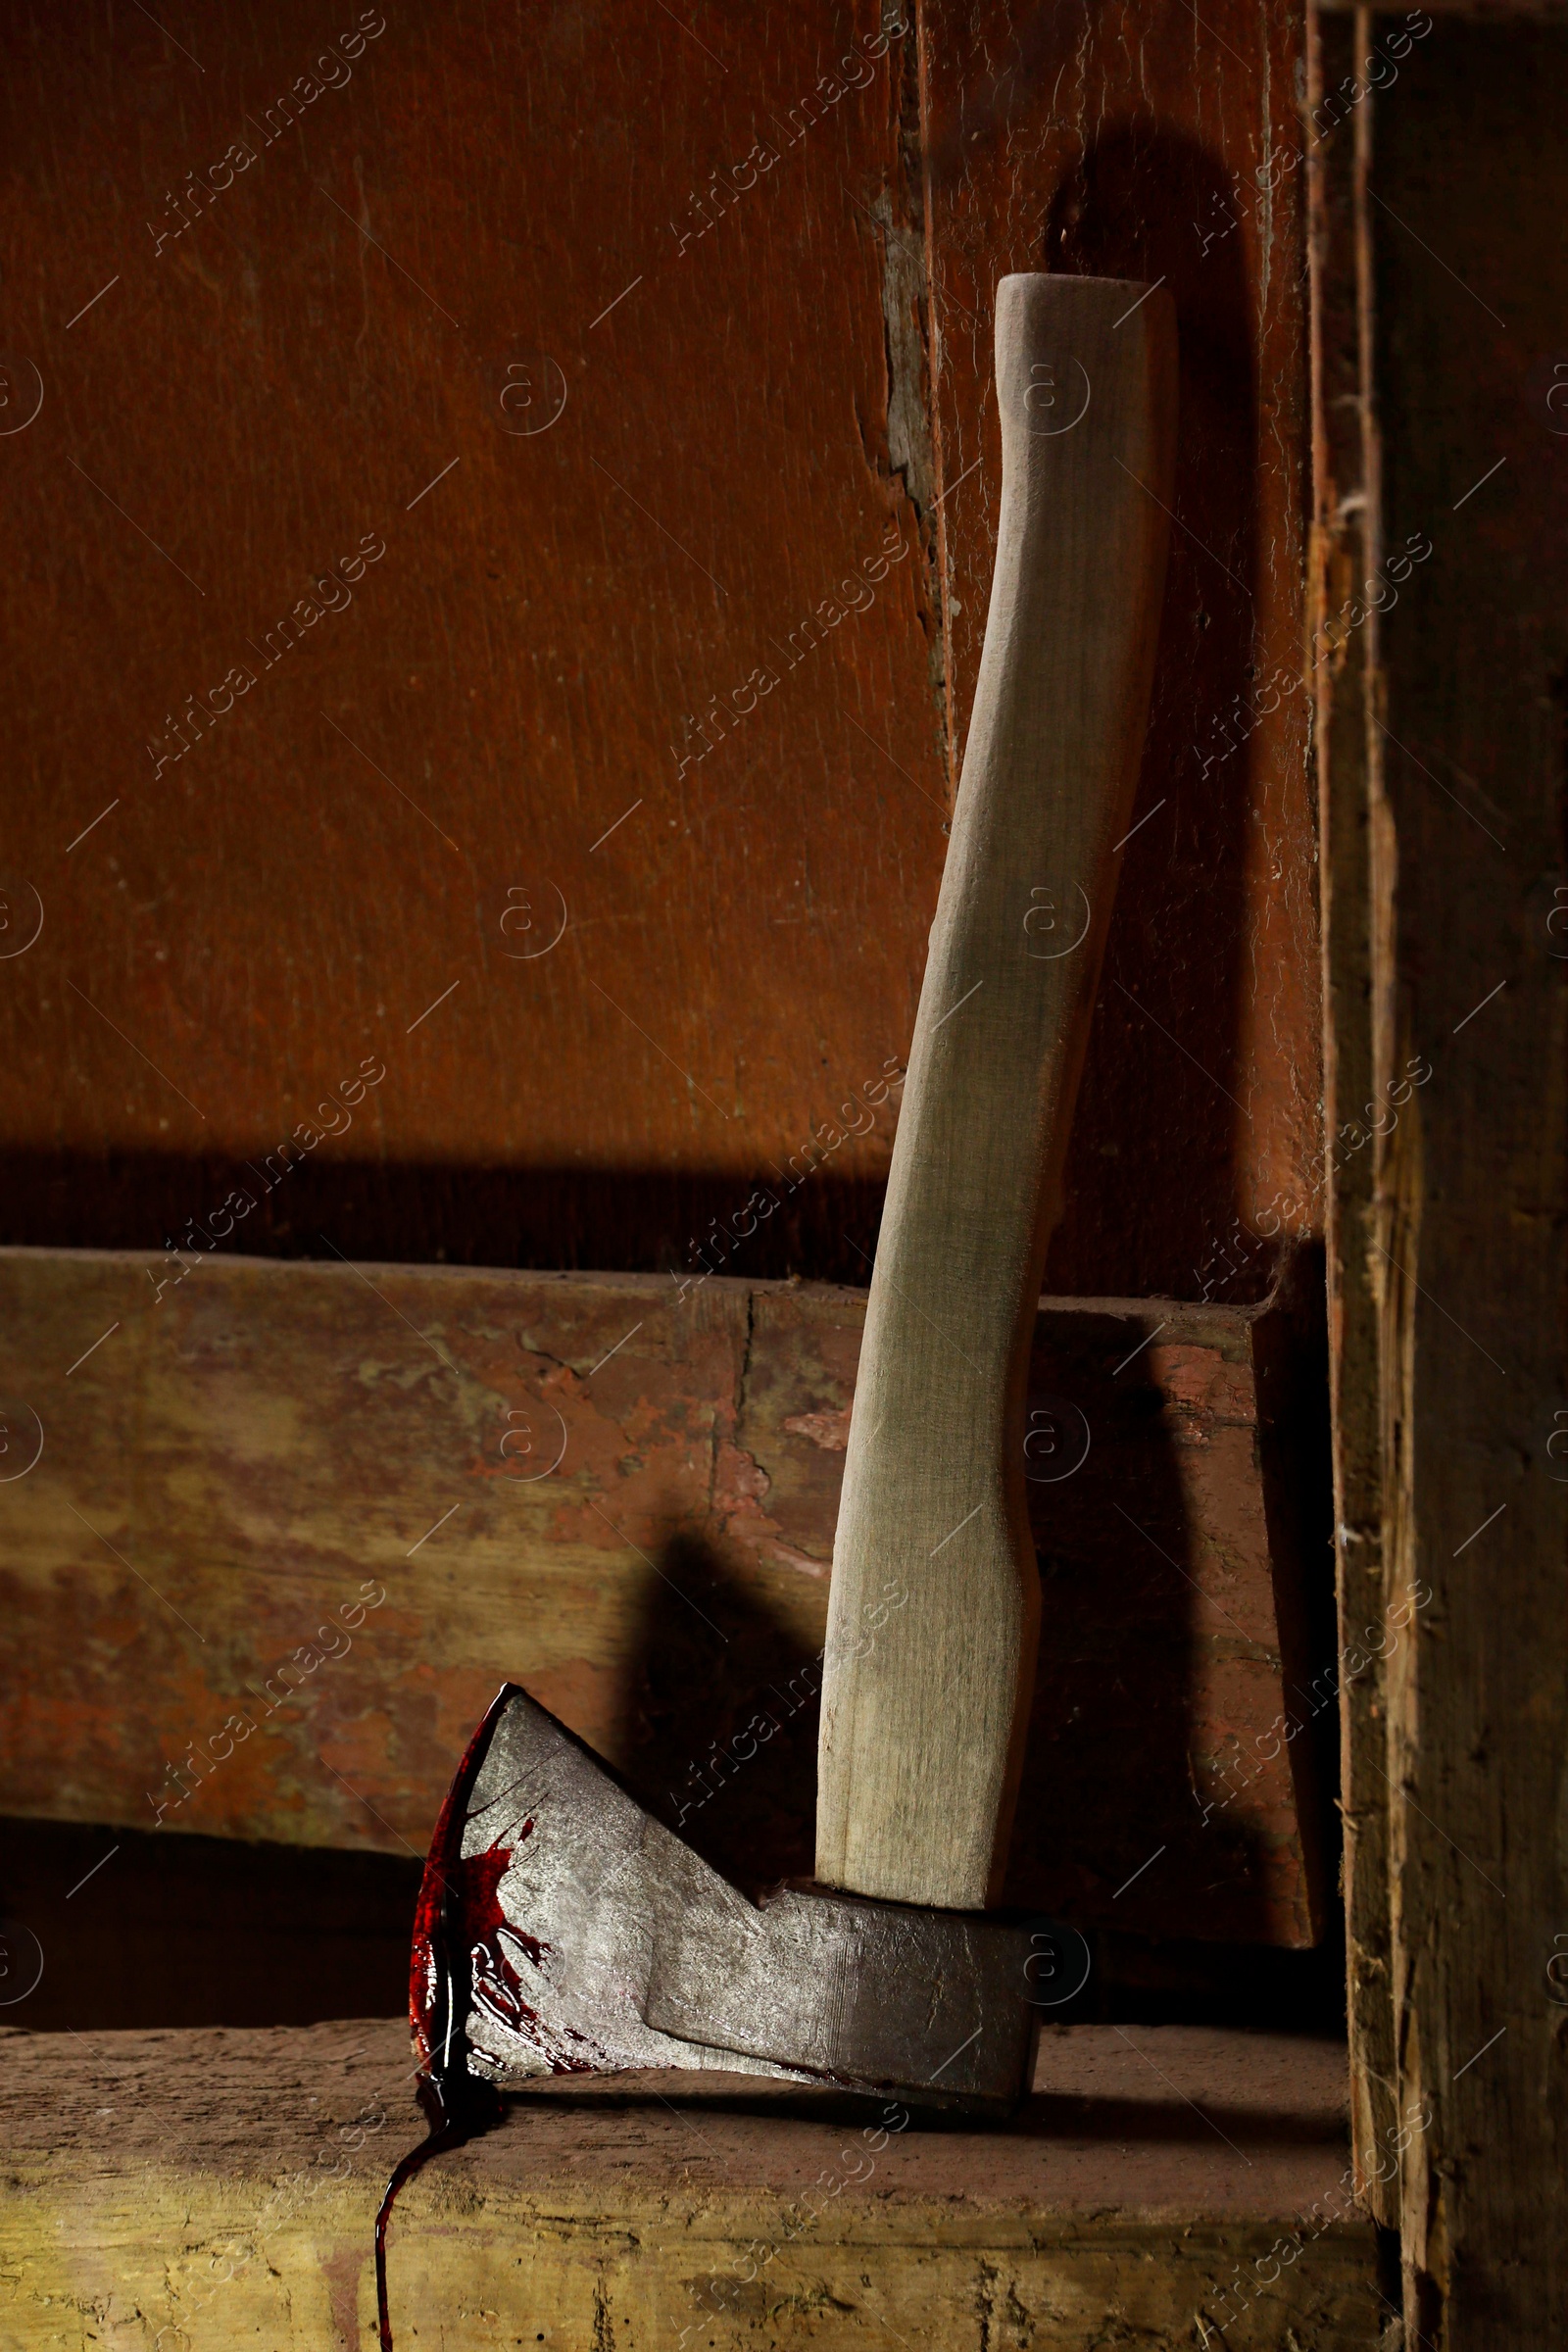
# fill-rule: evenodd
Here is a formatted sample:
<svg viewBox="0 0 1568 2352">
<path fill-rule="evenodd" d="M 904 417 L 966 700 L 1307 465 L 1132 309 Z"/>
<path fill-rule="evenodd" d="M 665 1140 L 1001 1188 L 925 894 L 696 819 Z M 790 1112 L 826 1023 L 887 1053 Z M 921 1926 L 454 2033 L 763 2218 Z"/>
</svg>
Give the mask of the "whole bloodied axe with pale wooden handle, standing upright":
<svg viewBox="0 0 1568 2352">
<path fill-rule="evenodd" d="M 987 1915 L 1039 1639 L 1025 1390 L 1147 720 L 1171 296 L 1004 278 L 997 407 L 997 569 L 832 1559 L 816 1879 L 752 1900 L 508 1684 L 414 1933 L 447 2131 L 550 2074 L 693 2067 L 966 2110 L 1027 2079 L 1030 1926 Z"/>
</svg>

